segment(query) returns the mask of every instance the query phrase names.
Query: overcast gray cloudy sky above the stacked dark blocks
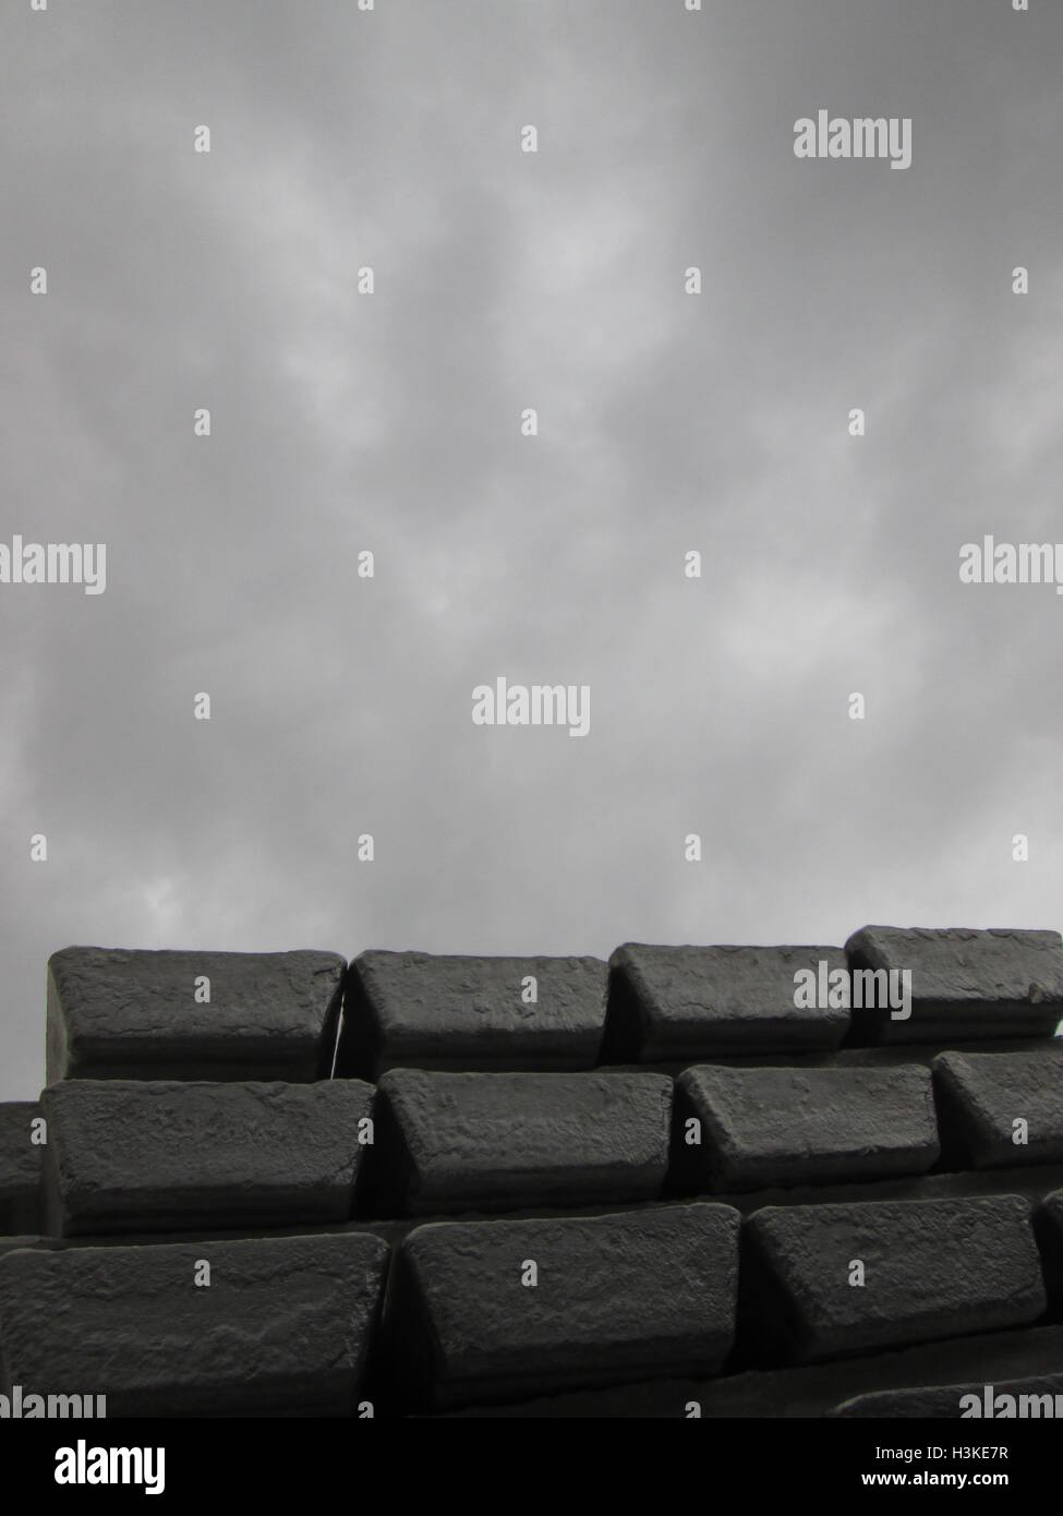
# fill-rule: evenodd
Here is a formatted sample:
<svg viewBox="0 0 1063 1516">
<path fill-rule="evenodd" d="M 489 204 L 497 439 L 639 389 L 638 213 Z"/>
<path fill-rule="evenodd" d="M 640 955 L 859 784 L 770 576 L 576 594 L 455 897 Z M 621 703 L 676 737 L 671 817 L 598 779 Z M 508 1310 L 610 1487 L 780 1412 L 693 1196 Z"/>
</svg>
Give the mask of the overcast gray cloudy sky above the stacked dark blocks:
<svg viewBox="0 0 1063 1516">
<path fill-rule="evenodd" d="M 103 596 L 0 585 L 0 1098 L 70 943 L 1063 925 L 1063 599 L 958 582 L 1063 540 L 1063 6 L 0 30 L 0 540 L 108 544 Z M 796 159 L 820 106 L 910 115 L 911 167 Z M 497 675 L 590 734 L 473 726 Z"/>
</svg>

